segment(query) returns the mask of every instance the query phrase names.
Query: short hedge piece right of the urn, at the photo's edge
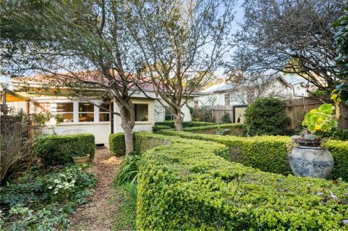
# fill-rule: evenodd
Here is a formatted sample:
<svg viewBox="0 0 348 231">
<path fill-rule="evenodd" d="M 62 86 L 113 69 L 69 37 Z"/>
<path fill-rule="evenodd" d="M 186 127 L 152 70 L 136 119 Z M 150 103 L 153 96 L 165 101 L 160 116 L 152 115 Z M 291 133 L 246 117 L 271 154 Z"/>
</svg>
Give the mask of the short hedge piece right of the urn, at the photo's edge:
<svg viewBox="0 0 348 231">
<path fill-rule="evenodd" d="M 330 140 L 324 146 L 333 155 L 334 166 L 330 178 L 342 178 L 348 182 L 348 141 Z"/>
</svg>

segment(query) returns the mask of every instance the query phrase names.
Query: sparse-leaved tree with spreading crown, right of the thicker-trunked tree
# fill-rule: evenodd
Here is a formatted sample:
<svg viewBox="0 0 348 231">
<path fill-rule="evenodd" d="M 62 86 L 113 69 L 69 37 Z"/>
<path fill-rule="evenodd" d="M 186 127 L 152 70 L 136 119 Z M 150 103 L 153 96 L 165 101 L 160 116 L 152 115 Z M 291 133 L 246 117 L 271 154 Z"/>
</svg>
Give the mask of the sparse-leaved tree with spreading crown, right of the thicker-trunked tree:
<svg viewBox="0 0 348 231">
<path fill-rule="evenodd" d="M 127 27 L 141 53 L 142 75 L 169 105 L 177 130 L 189 97 L 214 78 L 228 51 L 234 0 L 129 1 Z"/>
</svg>

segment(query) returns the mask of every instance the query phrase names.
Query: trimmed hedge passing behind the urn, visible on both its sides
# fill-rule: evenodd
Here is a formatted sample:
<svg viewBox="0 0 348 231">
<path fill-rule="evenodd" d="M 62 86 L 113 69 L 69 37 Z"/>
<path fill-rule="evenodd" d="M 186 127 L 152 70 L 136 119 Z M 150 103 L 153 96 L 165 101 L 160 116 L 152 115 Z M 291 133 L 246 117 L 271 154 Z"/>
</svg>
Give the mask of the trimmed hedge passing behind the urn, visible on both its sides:
<svg viewBox="0 0 348 231">
<path fill-rule="evenodd" d="M 177 132 L 175 130 L 161 130 L 159 133 L 225 144 L 230 149 L 228 160 L 271 173 L 280 173 L 285 176 L 292 174 L 288 161 L 290 137 L 234 137 Z M 348 142 L 330 140 L 324 146 L 331 151 L 335 163 L 330 179 L 342 178 L 342 180 L 348 181 Z"/>
</svg>

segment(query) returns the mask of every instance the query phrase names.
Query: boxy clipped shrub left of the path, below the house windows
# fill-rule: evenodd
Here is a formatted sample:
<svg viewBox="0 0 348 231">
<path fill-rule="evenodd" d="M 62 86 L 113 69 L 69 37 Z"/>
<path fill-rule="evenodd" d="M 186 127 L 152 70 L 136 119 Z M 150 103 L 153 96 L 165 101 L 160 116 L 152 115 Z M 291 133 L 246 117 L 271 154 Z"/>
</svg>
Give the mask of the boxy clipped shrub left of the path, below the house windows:
<svg viewBox="0 0 348 231">
<path fill-rule="evenodd" d="M 77 153 L 81 152 L 81 153 Z M 40 157 L 43 164 L 66 164 L 76 155 L 90 155 L 93 160 L 95 139 L 92 134 L 48 135 L 37 139 L 33 154 Z"/>
</svg>

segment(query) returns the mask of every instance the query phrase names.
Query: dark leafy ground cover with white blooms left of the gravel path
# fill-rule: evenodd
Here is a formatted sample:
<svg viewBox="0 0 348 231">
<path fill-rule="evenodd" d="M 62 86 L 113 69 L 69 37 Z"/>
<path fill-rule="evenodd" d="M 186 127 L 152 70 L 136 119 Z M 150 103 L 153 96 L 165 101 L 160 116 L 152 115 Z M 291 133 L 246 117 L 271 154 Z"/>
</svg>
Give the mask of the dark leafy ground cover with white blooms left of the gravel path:
<svg viewBox="0 0 348 231">
<path fill-rule="evenodd" d="M 1 230 L 65 230 L 74 207 L 87 202 L 95 177 L 82 166 L 33 167 L 0 189 Z"/>
</svg>

